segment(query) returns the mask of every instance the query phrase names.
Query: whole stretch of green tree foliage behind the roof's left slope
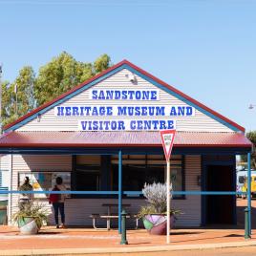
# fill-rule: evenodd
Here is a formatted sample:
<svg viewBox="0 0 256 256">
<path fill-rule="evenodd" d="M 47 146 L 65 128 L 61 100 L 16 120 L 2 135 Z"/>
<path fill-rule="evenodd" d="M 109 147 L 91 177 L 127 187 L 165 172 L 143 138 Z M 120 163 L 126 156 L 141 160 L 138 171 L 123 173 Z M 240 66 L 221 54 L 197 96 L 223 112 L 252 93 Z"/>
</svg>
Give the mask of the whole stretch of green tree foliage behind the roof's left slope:
<svg viewBox="0 0 256 256">
<path fill-rule="evenodd" d="M 77 61 L 71 54 L 63 52 L 39 68 L 38 75 L 30 66 L 22 68 L 12 83 L 5 81 L 2 84 L 3 125 L 24 116 L 33 108 L 60 96 L 110 66 L 111 59 L 107 54 L 100 55 L 95 62 L 90 63 Z"/>
</svg>

